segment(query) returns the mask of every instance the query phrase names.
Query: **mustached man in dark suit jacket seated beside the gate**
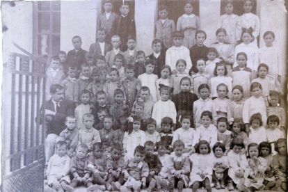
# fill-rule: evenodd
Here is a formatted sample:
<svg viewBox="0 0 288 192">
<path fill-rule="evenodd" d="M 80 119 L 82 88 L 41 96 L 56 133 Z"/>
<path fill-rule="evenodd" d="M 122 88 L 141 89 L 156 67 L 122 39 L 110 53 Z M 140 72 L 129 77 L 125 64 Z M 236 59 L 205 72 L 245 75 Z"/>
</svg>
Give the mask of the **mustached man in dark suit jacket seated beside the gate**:
<svg viewBox="0 0 288 192">
<path fill-rule="evenodd" d="M 45 101 L 45 118 L 47 125 L 47 138 L 45 141 L 45 157 L 48 163 L 50 157 L 54 154 L 55 141 L 65 126 L 65 120 L 68 115 L 74 115 L 75 104 L 70 100 L 64 99 L 64 88 L 55 84 L 50 87 L 51 99 Z M 40 111 L 43 111 L 43 105 Z M 42 125 L 42 114 L 35 118 L 35 122 Z"/>
</svg>

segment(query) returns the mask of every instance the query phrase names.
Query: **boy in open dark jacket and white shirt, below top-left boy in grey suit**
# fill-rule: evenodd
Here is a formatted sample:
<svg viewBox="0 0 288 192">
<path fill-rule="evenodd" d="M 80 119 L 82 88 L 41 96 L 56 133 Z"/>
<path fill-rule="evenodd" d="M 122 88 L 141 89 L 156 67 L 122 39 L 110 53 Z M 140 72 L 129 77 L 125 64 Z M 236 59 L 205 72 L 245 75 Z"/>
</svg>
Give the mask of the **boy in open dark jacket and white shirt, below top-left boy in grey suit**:
<svg viewBox="0 0 288 192">
<path fill-rule="evenodd" d="M 111 50 L 111 45 L 105 42 L 106 31 L 104 28 L 97 28 L 97 41 L 90 45 L 89 53 L 98 56 L 105 56 Z"/>
</svg>

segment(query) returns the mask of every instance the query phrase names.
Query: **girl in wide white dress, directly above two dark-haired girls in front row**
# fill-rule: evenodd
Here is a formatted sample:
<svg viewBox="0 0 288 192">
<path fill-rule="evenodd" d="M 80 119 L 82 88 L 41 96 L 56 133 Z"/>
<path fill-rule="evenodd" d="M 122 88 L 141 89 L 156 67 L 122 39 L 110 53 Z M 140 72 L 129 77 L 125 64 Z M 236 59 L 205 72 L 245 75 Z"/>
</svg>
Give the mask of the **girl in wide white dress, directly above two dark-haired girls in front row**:
<svg viewBox="0 0 288 192">
<path fill-rule="evenodd" d="M 217 128 L 211 124 L 212 113 L 204 111 L 201 114 L 202 125 L 196 129 L 195 136 L 193 137 L 192 146 L 195 146 L 199 141 L 205 140 L 213 147 L 217 142 Z"/>
</svg>

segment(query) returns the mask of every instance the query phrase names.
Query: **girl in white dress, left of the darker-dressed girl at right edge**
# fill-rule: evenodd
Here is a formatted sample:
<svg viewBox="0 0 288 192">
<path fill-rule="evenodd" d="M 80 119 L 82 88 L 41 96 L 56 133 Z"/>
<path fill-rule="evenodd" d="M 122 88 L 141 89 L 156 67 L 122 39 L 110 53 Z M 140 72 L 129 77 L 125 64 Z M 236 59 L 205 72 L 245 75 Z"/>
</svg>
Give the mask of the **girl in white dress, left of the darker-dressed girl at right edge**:
<svg viewBox="0 0 288 192">
<path fill-rule="evenodd" d="M 251 97 L 244 102 L 242 118 L 246 127 L 246 134 L 249 135 L 249 120 L 255 113 L 260 113 L 262 122 L 266 122 L 266 104 L 262 95 L 262 86 L 260 83 L 254 82 L 250 86 Z"/>
</svg>

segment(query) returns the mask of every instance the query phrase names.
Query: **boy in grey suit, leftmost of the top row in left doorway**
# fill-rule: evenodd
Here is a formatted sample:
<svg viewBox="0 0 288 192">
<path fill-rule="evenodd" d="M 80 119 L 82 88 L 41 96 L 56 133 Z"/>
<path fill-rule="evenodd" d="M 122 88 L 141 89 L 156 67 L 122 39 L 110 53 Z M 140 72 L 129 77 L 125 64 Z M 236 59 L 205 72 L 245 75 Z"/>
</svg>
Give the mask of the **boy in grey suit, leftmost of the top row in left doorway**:
<svg viewBox="0 0 288 192">
<path fill-rule="evenodd" d="M 97 17 L 97 29 L 104 28 L 107 39 L 110 39 L 112 24 L 116 19 L 119 19 L 119 15 L 112 12 L 113 4 L 111 0 L 105 0 L 103 8 L 105 12 Z"/>
</svg>

